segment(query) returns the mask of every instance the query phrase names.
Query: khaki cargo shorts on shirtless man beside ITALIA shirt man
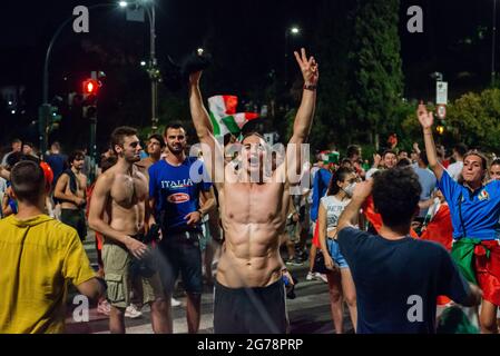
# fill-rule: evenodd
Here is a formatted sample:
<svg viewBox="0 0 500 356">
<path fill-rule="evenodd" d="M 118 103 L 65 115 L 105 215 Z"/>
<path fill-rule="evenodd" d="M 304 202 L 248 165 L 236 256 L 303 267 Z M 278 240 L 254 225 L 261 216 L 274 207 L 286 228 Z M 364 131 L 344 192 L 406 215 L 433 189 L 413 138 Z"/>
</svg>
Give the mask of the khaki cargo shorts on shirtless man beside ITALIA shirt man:
<svg viewBox="0 0 500 356">
<path fill-rule="evenodd" d="M 125 246 L 105 238 L 102 246 L 105 280 L 108 284 L 108 300 L 114 307 L 125 309 L 130 304 L 133 258 Z M 141 278 L 143 283 L 144 304 L 165 298 L 158 273 L 150 278 Z"/>
</svg>

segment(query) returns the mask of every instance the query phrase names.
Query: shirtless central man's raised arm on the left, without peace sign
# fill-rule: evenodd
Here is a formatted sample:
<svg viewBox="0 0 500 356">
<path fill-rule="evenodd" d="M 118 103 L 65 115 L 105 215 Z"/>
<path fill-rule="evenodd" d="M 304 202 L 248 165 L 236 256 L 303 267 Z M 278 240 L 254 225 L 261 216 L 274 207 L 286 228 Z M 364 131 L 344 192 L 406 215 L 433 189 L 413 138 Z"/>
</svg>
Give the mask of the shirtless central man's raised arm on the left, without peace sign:
<svg viewBox="0 0 500 356">
<path fill-rule="evenodd" d="M 224 156 L 220 146 L 218 145 L 217 140 L 214 137 L 214 129 L 212 127 L 208 112 L 205 106 L 203 105 L 202 92 L 199 90 L 200 77 L 202 71 L 192 73 L 189 76 L 189 109 L 193 123 L 196 129 L 196 135 L 198 136 L 198 139 L 202 142 L 202 150 L 205 166 L 207 167 L 212 180 L 214 182 L 217 182 L 222 181 L 222 179 L 215 178 L 216 158 L 222 159 L 224 161 L 223 159 Z"/>
</svg>

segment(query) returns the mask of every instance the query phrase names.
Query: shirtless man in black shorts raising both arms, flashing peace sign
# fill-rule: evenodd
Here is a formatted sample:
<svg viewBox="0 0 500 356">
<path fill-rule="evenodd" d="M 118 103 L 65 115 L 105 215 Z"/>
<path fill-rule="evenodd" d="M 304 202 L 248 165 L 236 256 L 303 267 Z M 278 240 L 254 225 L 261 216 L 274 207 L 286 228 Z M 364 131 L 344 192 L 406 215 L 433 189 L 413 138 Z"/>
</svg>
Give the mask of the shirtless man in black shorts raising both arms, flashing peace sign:
<svg viewBox="0 0 500 356">
<path fill-rule="evenodd" d="M 295 58 L 304 78 L 302 102 L 298 108 L 290 144 L 304 144 L 311 130 L 318 79 L 317 65 L 307 59 L 305 50 Z M 288 172 L 300 167 L 297 150 L 288 148 L 287 164 L 272 172 L 271 181 L 263 179 L 266 142 L 253 132 L 242 140 L 243 151 L 238 171 L 224 164 L 224 179 L 217 181 L 215 157 L 224 157 L 214 138 L 208 113 L 199 91 L 202 72 L 189 78 L 189 105 L 196 132 L 203 146 L 205 165 L 218 190 L 225 245 L 218 263 L 214 333 L 286 333 L 287 316 L 283 276 L 292 280 L 280 256 L 280 236 L 286 221 L 290 204 Z M 210 159 L 212 158 L 212 159 Z M 255 179 L 249 177 L 258 176 Z"/>
</svg>

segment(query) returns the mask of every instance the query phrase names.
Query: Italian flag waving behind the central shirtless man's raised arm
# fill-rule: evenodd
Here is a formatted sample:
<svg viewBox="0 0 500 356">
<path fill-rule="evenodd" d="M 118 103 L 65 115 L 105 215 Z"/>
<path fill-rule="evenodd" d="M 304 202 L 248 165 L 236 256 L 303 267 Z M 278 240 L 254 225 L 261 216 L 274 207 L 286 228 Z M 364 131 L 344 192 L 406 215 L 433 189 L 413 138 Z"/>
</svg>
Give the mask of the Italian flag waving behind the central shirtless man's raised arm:
<svg viewBox="0 0 500 356">
<path fill-rule="evenodd" d="M 208 98 L 208 113 L 214 126 L 214 136 L 238 135 L 249 120 L 258 118 L 256 112 L 236 112 L 238 97 L 215 96 Z"/>
</svg>

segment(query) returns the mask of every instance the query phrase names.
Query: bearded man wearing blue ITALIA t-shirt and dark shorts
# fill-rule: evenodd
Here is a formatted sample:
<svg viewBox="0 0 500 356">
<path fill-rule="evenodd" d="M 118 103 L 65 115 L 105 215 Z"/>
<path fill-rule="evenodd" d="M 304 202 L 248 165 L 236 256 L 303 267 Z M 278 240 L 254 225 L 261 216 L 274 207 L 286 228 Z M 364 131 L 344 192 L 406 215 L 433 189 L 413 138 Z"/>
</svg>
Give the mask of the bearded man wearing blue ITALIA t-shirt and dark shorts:
<svg viewBox="0 0 500 356">
<path fill-rule="evenodd" d="M 186 157 L 186 132 L 180 125 L 165 128 L 168 155 L 149 167 L 149 198 L 156 220 L 161 226 L 159 273 L 167 300 L 180 273 L 187 294 L 187 325 L 189 333 L 199 328 L 203 291 L 202 253 L 199 238 L 202 218 L 215 207 L 212 184 L 203 162 Z M 199 196 L 205 204 L 199 206 Z M 171 325 L 171 310 L 168 307 Z M 171 332 L 171 330 L 170 330 Z"/>
</svg>

